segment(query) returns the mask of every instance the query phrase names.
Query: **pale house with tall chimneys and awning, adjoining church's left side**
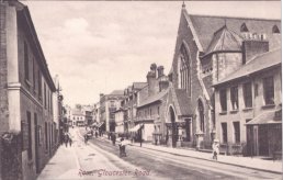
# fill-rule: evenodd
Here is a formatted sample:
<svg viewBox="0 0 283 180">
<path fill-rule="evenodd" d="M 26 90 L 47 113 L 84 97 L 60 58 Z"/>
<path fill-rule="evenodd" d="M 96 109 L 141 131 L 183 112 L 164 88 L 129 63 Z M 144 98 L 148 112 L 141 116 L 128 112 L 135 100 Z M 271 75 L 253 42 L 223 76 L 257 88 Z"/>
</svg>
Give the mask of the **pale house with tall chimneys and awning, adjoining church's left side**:
<svg viewBox="0 0 283 180">
<path fill-rule="evenodd" d="M 150 142 L 156 145 L 165 144 L 165 108 L 168 95 L 168 77 L 163 75 L 163 66 L 150 66 L 147 74 L 147 86 L 137 91 L 137 106 L 135 126 L 129 130 L 132 136 L 140 142 Z"/>
</svg>

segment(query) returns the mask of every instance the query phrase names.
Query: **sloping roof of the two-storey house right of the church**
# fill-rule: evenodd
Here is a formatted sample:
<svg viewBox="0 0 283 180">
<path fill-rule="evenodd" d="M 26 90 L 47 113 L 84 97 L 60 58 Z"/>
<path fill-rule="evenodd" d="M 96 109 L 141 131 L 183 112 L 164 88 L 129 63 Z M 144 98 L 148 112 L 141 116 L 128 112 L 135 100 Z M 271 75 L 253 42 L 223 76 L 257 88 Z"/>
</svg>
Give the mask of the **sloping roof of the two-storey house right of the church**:
<svg viewBox="0 0 283 180">
<path fill-rule="evenodd" d="M 225 83 L 248 75 L 252 75 L 254 72 L 258 72 L 260 70 L 263 70 L 276 65 L 281 65 L 281 48 L 276 50 L 268 52 L 254 57 L 246 65 L 244 65 L 241 68 L 239 68 L 231 75 L 227 76 L 219 82 L 215 83 L 214 86 L 218 86 L 220 83 Z"/>
</svg>

